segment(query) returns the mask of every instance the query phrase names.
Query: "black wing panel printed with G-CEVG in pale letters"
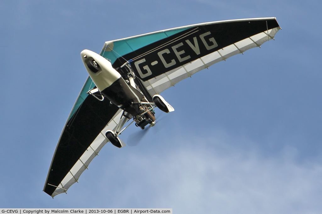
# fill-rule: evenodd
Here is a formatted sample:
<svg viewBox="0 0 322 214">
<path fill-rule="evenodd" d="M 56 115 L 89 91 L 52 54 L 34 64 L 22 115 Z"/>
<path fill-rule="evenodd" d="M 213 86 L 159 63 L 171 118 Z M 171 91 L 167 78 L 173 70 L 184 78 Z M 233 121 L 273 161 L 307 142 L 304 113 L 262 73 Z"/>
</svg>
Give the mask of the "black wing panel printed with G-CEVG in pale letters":
<svg viewBox="0 0 322 214">
<path fill-rule="evenodd" d="M 120 67 L 129 61 L 135 74 L 142 81 L 147 81 L 238 41 L 276 27 L 279 27 L 276 19 L 195 26 L 119 57 L 113 67 Z M 148 68 L 150 71 L 147 70 Z"/>
</svg>

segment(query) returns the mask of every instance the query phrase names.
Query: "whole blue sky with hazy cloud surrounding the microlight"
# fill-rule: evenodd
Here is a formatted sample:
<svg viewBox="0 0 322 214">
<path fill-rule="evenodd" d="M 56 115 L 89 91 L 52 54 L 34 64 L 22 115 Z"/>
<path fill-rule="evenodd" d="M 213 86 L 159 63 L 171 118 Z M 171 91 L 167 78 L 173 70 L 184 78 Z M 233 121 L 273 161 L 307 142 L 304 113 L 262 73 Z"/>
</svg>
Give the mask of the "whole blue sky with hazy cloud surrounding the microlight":
<svg viewBox="0 0 322 214">
<path fill-rule="evenodd" d="M 319 1 L 0 2 L 0 207 L 320 213 Z M 83 49 L 189 24 L 277 17 L 282 30 L 161 95 L 175 108 L 140 142 L 110 143 L 79 183 L 42 192 L 88 73 Z"/>
</svg>

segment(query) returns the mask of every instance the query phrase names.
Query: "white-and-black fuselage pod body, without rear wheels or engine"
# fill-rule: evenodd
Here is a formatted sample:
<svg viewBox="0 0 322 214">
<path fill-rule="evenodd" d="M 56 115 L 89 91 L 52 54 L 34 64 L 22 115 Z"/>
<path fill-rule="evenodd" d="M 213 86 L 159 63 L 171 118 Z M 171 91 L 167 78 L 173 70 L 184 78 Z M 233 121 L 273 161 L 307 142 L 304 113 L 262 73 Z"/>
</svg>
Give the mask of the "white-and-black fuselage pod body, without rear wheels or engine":
<svg viewBox="0 0 322 214">
<path fill-rule="evenodd" d="M 81 58 L 90 78 L 104 97 L 132 116 L 140 114 L 138 103 L 147 101 L 137 89 L 124 81 L 107 59 L 90 50 L 83 50 Z"/>
</svg>

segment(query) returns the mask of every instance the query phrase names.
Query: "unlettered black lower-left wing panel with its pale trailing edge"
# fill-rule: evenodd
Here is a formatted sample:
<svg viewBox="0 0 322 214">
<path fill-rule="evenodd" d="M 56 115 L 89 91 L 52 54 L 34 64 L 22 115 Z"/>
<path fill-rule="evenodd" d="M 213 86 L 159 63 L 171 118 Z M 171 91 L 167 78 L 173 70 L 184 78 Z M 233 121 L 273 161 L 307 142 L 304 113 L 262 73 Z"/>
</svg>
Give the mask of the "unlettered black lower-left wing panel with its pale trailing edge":
<svg viewBox="0 0 322 214">
<path fill-rule="evenodd" d="M 117 114 L 118 110 L 117 106 L 110 106 L 109 100 L 106 98 L 103 101 L 99 101 L 92 95 L 85 98 L 62 131 L 43 189 L 45 193 L 54 197 L 56 194 L 65 192 L 71 184 L 77 182 L 78 177 L 89 164 L 86 161 L 89 158 L 91 161 L 103 146 L 100 145 L 102 143 L 100 142 L 99 146 L 95 146 L 93 149 L 90 147 L 91 144 L 99 135 L 102 135 L 100 132 Z M 105 140 L 104 136 L 100 139 Z M 104 144 L 106 142 L 105 140 Z M 81 160 L 82 155 L 89 149 L 93 150 L 94 156 L 84 157 Z M 71 169 L 77 165 L 77 162 L 83 164 L 79 167 L 83 170 L 77 169 L 77 172 L 74 170 L 75 172 L 72 173 Z M 64 179 L 66 181 L 62 184 Z"/>
</svg>

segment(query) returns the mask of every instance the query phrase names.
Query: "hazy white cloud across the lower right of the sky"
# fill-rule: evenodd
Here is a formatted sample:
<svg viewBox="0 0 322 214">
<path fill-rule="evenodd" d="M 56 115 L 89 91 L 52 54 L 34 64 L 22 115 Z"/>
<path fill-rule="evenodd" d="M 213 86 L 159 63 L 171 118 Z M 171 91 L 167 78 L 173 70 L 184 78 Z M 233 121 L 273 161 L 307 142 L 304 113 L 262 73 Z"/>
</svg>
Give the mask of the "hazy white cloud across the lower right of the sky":
<svg viewBox="0 0 322 214">
<path fill-rule="evenodd" d="M 293 148 L 264 158 L 254 146 L 252 150 L 229 146 L 232 141 L 245 142 L 244 138 L 215 135 L 185 139 L 196 145 L 207 142 L 208 148 L 133 153 L 109 165 L 99 179 L 105 193 L 101 200 L 108 200 L 109 207 L 173 208 L 176 213 L 321 210 L 320 164 L 298 164 Z"/>
</svg>

